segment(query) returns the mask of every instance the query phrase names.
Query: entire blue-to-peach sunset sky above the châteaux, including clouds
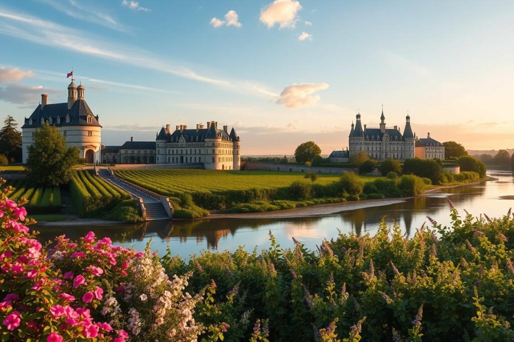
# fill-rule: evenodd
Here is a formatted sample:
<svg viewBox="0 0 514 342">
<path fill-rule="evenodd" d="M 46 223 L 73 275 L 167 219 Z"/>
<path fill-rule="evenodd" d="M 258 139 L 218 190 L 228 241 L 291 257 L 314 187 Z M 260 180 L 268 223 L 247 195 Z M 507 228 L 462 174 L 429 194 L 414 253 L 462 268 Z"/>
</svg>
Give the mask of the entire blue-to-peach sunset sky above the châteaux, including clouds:
<svg viewBox="0 0 514 342">
<path fill-rule="evenodd" d="M 3 0 L 0 116 L 19 123 L 73 68 L 102 143 L 166 124 L 234 127 L 242 154 L 322 154 L 363 124 L 514 147 L 514 2 Z"/>
</svg>

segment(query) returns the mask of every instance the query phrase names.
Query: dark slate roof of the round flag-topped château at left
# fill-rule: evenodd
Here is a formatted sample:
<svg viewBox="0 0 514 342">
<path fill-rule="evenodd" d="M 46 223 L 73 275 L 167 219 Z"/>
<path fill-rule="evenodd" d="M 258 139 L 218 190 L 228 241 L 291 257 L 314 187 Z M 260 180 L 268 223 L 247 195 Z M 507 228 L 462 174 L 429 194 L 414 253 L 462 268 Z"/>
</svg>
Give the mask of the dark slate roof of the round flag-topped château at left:
<svg viewBox="0 0 514 342">
<path fill-rule="evenodd" d="M 66 123 L 66 115 L 69 115 L 69 123 Z M 87 116 L 91 115 L 91 123 L 87 123 Z M 25 123 L 22 128 L 36 128 L 41 127 L 41 118 L 49 121 L 52 118 L 52 126 L 96 126 L 102 127 L 98 123 L 98 116 L 95 116 L 84 99 L 77 99 L 73 106 L 68 109 L 68 103 L 47 104 L 45 106 L 38 105 L 36 109 L 25 118 Z M 57 118 L 60 118 L 60 123 L 57 123 Z M 30 119 L 32 118 L 32 125 Z"/>
</svg>

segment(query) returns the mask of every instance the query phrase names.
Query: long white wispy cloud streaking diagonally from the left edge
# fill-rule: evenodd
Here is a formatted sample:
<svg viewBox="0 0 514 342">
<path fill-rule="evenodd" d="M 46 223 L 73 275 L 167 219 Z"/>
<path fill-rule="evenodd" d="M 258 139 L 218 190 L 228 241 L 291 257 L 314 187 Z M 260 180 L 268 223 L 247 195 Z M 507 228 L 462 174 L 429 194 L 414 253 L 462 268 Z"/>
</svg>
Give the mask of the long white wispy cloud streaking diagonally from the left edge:
<svg viewBox="0 0 514 342">
<path fill-rule="evenodd" d="M 8 19 L 9 21 L 9 23 L 6 21 L 0 22 L 0 33 L 36 44 L 76 51 L 141 68 L 158 70 L 217 87 L 228 88 L 233 91 L 246 91 L 269 96 L 269 92 L 255 88 L 251 83 L 228 81 L 227 79 L 205 76 L 189 68 L 172 65 L 167 59 L 156 57 L 149 52 L 122 46 L 113 42 L 102 41 L 99 37 L 88 36 L 84 31 L 45 21 L 38 17 L 13 13 L 1 8 L 0 17 Z"/>
</svg>

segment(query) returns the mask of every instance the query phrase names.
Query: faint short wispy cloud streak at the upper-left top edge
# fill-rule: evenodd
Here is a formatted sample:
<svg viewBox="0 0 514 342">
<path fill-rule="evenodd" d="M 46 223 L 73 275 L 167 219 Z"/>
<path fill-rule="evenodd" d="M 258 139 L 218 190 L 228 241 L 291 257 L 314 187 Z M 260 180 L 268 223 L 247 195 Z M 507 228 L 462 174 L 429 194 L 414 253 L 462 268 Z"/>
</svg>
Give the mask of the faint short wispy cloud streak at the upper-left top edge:
<svg viewBox="0 0 514 342">
<path fill-rule="evenodd" d="M 43 4 L 52 7 L 55 10 L 61 11 L 66 15 L 83 20 L 85 22 L 102 25 L 117 31 L 128 32 L 129 30 L 118 23 L 111 15 L 107 14 L 104 10 L 88 6 L 83 6 L 77 0 L 68 0 L 68 2 L 59 2 L 56 0 L 37 0 Z"/>
</svg>

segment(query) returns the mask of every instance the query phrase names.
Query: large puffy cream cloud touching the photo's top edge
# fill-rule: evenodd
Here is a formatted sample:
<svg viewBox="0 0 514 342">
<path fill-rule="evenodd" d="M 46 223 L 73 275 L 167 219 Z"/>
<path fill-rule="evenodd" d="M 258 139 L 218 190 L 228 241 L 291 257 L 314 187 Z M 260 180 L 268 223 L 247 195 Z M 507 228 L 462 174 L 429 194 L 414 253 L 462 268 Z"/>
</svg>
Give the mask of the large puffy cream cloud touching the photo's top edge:
<svg viewBox="0 0 514 342">
<path fill-rule="evenodd" d="M 293 28 L 296 25 L 297 13 L 302 6 L 295 0 L 275 0 L 261 9 L 260 21 L 268 27 L 279 24 L 280 28 Z"/>
</svg>

